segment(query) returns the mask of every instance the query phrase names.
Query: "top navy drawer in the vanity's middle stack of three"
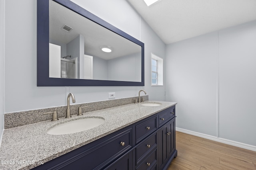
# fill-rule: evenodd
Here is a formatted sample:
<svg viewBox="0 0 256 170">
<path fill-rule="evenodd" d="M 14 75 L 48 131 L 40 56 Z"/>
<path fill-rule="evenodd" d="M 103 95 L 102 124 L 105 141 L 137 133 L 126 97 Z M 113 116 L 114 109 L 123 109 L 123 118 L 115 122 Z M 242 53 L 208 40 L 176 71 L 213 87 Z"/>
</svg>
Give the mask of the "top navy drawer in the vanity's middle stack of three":
<svg viewBox="0 0 256 170">
<path fill-rule="evenodd" d="M 135 129 L 136 143 L 138 143 L 156 130 L 156 116 L 139 123 Z"/>
</svg>

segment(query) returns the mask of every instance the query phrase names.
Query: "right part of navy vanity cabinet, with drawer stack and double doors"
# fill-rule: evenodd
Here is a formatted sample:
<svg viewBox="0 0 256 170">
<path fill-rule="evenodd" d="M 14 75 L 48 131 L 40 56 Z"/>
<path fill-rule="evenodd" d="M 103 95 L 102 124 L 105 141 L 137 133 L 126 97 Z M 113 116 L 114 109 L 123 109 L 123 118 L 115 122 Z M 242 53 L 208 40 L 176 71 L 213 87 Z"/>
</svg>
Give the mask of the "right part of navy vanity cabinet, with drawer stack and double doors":
<svg viewBox="0 0 256 170">
<path fill-rule="evenodd" d="M 172 106 L 136 123 L 136 170 L 166 170 L 177 156 L 175 117 Z"/>
</svg>

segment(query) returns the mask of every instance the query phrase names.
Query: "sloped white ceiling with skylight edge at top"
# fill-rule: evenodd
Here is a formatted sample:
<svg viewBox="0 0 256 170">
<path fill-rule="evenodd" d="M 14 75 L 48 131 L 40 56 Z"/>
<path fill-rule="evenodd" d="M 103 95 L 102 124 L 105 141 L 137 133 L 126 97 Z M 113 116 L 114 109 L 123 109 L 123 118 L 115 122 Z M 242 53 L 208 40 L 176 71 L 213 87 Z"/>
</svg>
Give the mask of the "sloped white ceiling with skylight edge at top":
<svg viewBox="0 0 256 170">
<path fill-rule="evenodd" d="M 127 0 L 164 43 L 256 20 L 256 0 Z"/>
</svg>

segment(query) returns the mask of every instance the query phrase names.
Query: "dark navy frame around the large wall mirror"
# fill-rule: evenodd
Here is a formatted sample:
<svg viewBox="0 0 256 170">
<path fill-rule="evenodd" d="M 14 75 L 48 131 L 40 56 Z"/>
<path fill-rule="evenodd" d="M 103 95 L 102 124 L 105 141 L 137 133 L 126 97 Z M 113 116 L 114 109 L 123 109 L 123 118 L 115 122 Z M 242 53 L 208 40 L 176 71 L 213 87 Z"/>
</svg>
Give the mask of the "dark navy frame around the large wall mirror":
<svg viewBox="0 0 256 170">
<path fill-rule="evenodd" d="M 37 0 L 37 86 L 144 86 L 144 43 L 98 18 L 70 0 L 54 0 L 62 6 L 98 23 L 102 27 L 138 44 L 142 48 L 141 82 L 85 80 L 49 77 L 49 1 Z M 132 68 L 131 68 L 132 69 Z M 122 71 L 122 70 L 120 70 Z"/>
</svg>

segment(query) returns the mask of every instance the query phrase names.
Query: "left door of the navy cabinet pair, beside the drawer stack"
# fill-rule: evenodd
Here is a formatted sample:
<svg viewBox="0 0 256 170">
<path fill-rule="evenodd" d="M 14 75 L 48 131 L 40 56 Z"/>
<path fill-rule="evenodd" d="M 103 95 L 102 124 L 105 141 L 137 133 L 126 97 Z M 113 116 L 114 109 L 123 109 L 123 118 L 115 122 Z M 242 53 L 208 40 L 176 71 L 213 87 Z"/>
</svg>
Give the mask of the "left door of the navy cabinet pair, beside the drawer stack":
<svg viewBox="0 0 256 170">
<path fill-rule="evenodd" d="M 163 169 L 166 162 L 168 161 L 168 123 L 163 125 L 158 130 L 158 166 L 159 169 Z"/>
</svg>

